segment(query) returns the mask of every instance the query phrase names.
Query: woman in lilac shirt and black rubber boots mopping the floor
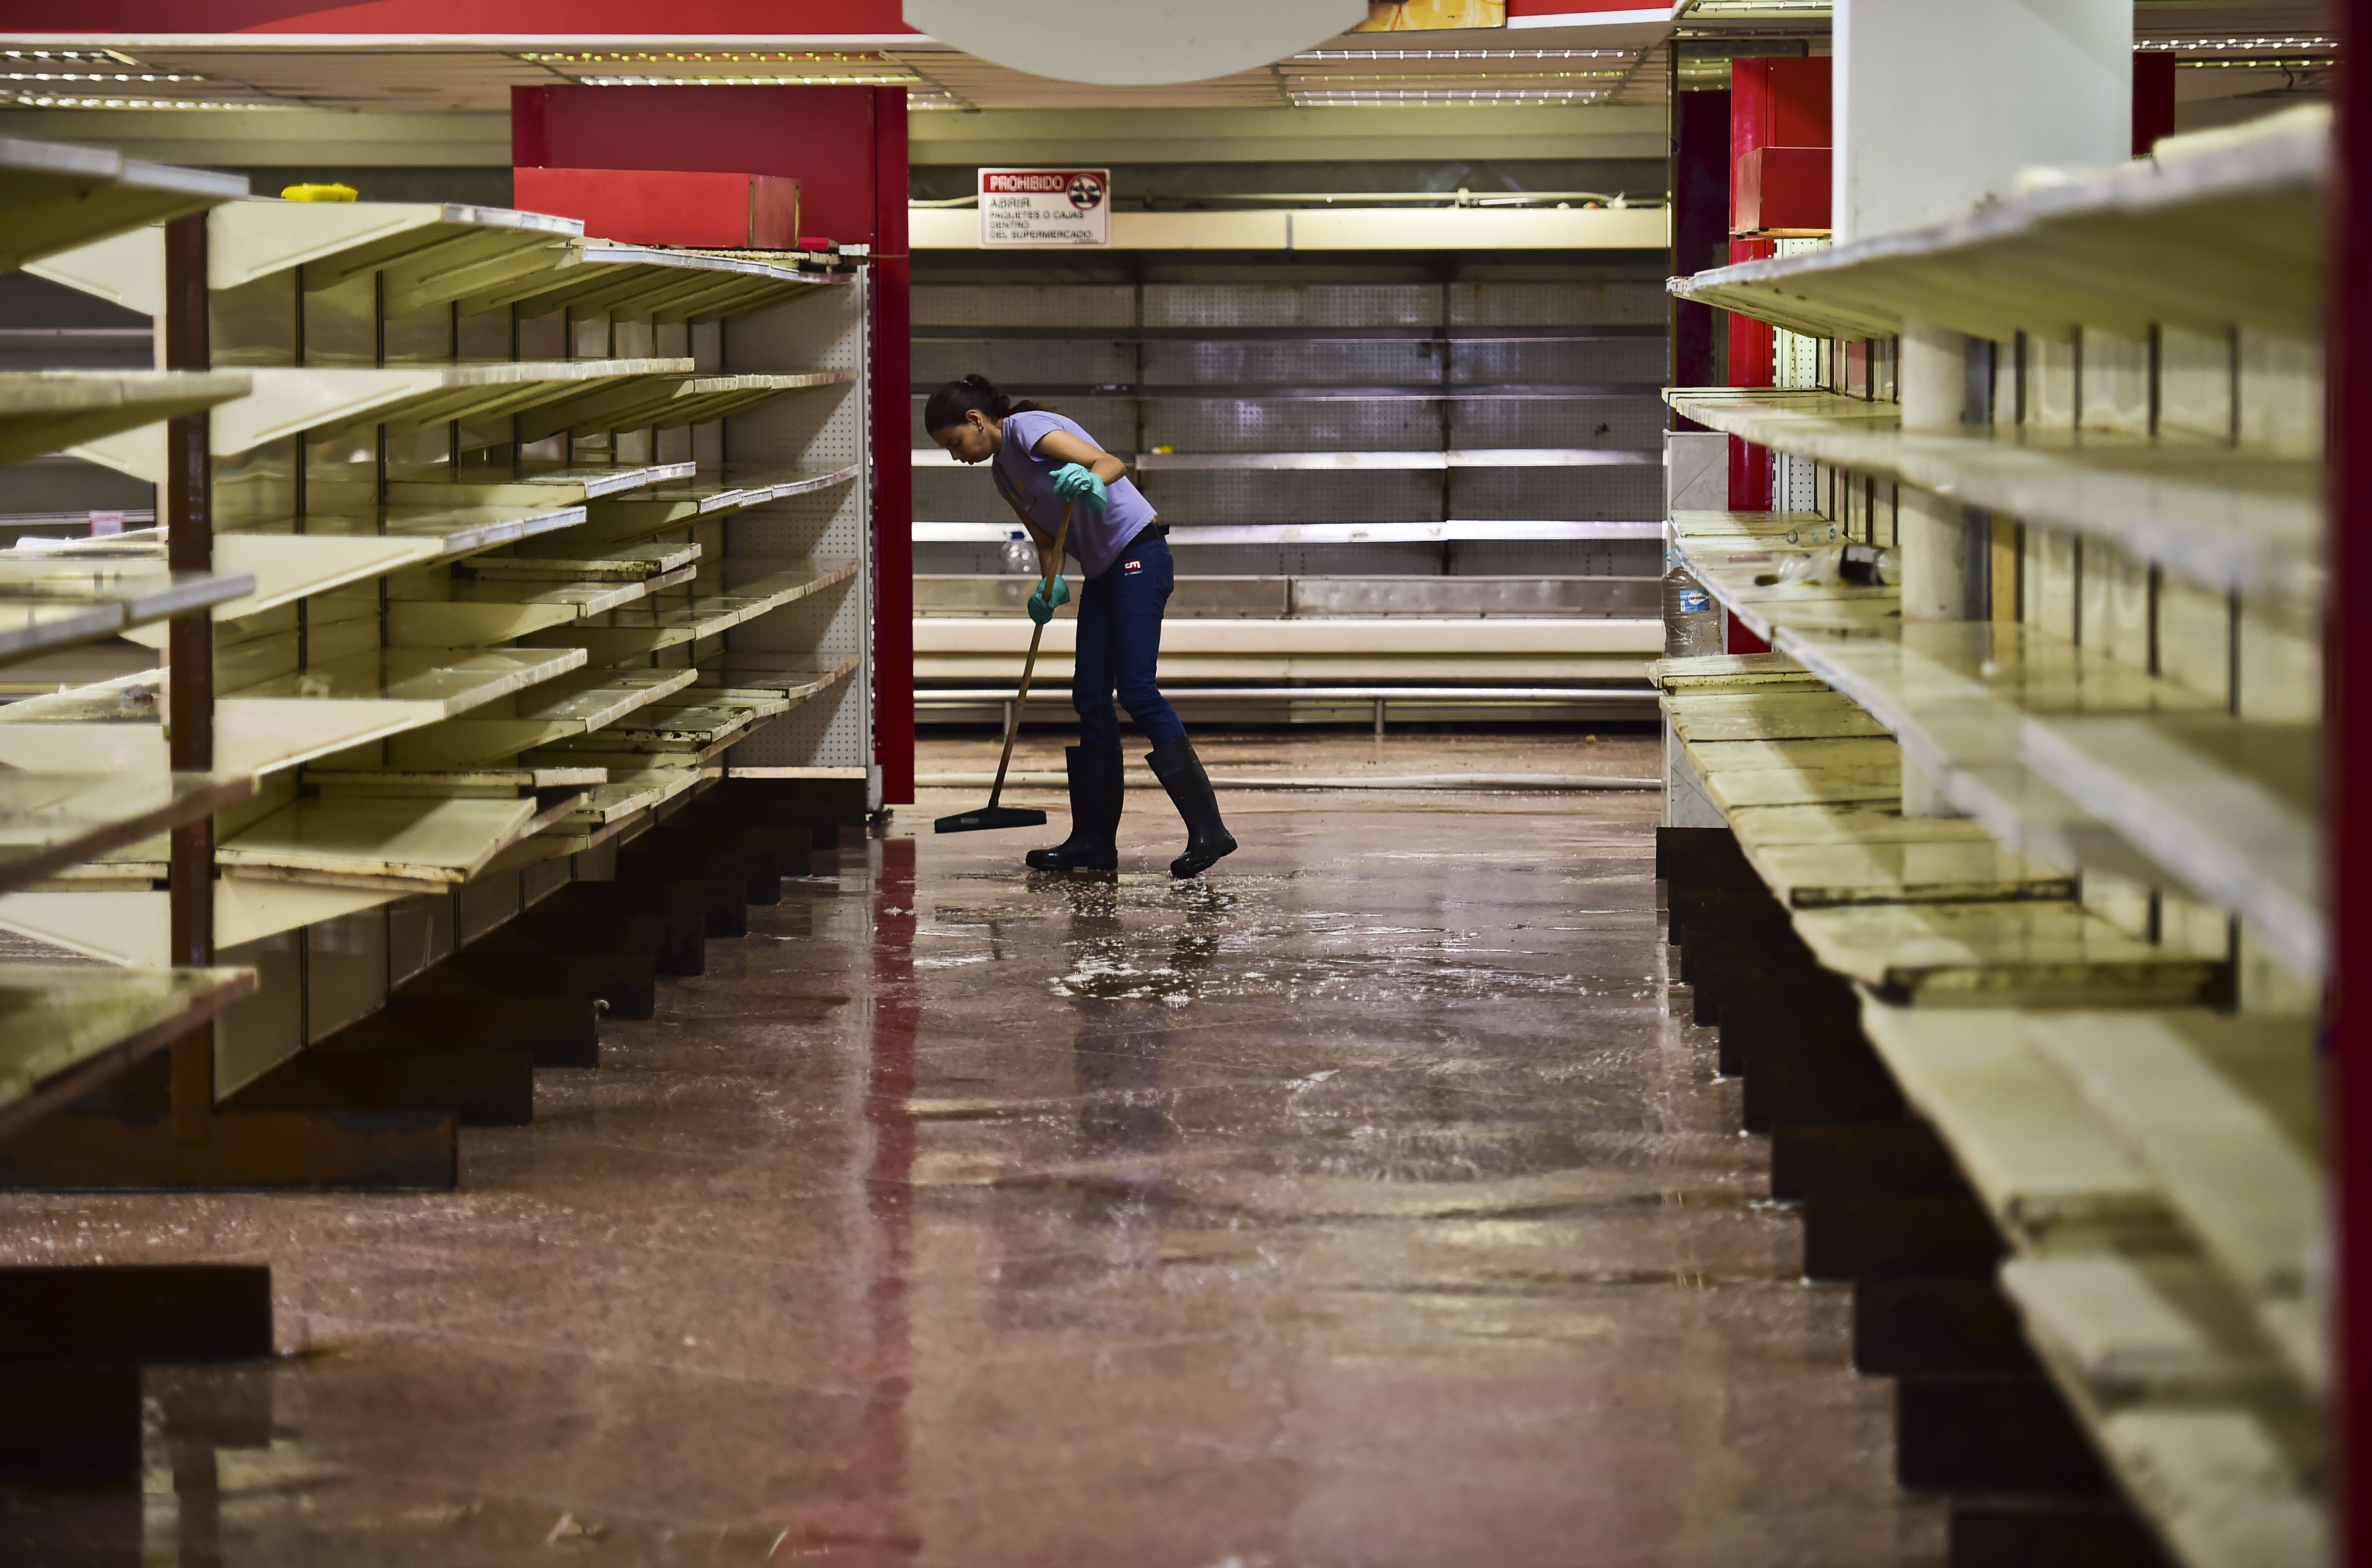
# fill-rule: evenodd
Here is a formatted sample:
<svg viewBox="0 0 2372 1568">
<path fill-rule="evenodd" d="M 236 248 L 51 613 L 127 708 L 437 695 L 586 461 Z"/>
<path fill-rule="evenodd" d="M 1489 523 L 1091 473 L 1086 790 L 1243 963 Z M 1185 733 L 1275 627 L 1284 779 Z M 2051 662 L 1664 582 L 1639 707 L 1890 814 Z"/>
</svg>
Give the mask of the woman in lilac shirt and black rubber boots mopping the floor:
<svg viewBox="0 0 2372 1568">
<path fill-rule="evenodd" d="M 1086 576 L 1079 595 L 1079 655 L 1070 678 L 1070 702 L 1079 709 L 1079 745 L 1063 759 L 1070 769 L 1070 840 L 1032 849 L 1032 871 L 1117 871 L 1120 849 L 1120 714 L 1112 693 L 1136 719 L 1153 750 L 1146 764 L 1169 790 L 1186 818 L 1186 854 L 1169 861 L 1169 875 L 1191 878 L 1236 852 L 1219 799 L 1210 790 L 1203 759 L 1186 740 L 1186 726 L 1155 686 L 1162 652 L 1162 607 L 1174 572 L 1167 524 L 1155 522 L 1127 465 L 1070 420 L 1037 403 L 1015 403 L 984 375 L 968 375 L 930 394 L 923 429 L 954 453 L 956 463 L 987 463 L 996 491 L 1013 508 L 1039 557 L 1053 550 L 1063 508 L 1070 505 L 1070 555 Z M 1051 560 L 1029 595 L 1029 619 L 1044 626 L 1056 605 L 1070 603 L 1063 562 Z"/>
</svg>

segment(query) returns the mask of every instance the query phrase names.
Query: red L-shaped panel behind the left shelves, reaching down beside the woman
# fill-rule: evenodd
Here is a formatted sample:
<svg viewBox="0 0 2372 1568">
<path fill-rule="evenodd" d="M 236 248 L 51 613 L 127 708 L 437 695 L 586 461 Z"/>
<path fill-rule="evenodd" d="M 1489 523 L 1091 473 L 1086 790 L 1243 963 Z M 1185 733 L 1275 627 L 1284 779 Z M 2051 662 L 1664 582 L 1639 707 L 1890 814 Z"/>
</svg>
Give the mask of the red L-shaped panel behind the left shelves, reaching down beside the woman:
<svg viewBox="0 0 2372 1568">
<path fill-rule="evenodd" d="M 799 180 L 799 232 L 873 247 L 873 757 L 913 799 L 913 353 L 904 88 L 512 88 L 522 168 L 688 168 Z"/>
</svg>

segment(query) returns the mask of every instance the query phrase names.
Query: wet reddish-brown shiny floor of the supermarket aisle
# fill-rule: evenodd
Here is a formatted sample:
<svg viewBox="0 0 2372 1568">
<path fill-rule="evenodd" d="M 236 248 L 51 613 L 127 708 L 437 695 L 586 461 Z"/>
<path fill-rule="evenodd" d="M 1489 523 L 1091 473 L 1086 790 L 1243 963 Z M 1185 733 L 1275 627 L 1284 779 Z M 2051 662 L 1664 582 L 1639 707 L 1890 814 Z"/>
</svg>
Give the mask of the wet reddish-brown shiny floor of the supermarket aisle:
<svg viewBox="0 0 2372 1568">
<path fill-rule="evenodd" d="M 275 1440 L 183 1497 L 159 1442 L 149 1561 L 1940 1559 L 1670 1001 L 1653 795 L 1229 795 L 1195 885 L 1158 797 L 1065 882 L 927 835 L 973 795 L 455 1196 L 0 1200 L 9 1262 L 273 1264 L 285 1355 L 223 1383 Z"/>
</svg>

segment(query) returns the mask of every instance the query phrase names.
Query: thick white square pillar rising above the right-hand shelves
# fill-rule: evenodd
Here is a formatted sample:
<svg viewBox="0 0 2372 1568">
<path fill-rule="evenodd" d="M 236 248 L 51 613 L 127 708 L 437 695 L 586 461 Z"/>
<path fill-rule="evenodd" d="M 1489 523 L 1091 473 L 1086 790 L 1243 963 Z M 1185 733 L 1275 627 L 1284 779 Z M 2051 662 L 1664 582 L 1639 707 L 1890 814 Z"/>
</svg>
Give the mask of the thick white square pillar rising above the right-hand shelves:
<svg viewBox="0 0 2372 1568">
<path fill-rule="evenodd" d="M 1836 0 L 1836 240 L 2132 154 L 2132 0 Z"/>
</svg>

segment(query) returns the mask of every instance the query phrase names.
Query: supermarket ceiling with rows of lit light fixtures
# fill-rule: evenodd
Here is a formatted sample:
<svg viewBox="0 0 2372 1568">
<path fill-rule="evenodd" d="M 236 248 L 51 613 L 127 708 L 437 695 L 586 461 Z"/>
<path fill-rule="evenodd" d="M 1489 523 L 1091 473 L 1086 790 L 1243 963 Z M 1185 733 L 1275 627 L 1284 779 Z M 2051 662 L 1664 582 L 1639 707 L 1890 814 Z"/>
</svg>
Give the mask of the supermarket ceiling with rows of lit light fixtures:
<svg viewBox="0 0 2372 1568">
<path fill-rule="evenodd" d="M 0 33 L 0 107 L 21 109 L 460 109 L 500 111 L 538 83 L 878 83 L 916 109 L 1324 109 L 1423 104 L 1656 104 L 1668 55 L 1739 36 L 1810 38 L 1829 0 L 1696 0 L 1670 24 L 1347 33 L 1257 71 L 1177 85 L 1093 85 L 1029 76 L 932 40 L 882 50 L 567 50 L 318 36 L 268 43 L 173 38 L 142 47 Z M 2187 121 L 2232 119 L 2258 100 L 2317 93 L 2334 57 L 2322 5 L 2137 0 L 2135 40 L 2185 62 Z M 1423 38 L 1423 43 L 1414 43 Z"/>
</svg>

